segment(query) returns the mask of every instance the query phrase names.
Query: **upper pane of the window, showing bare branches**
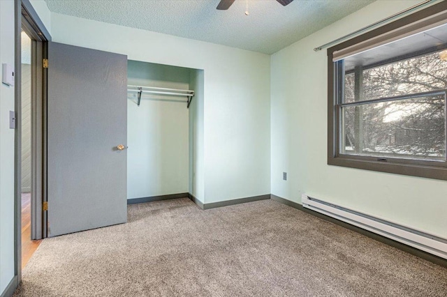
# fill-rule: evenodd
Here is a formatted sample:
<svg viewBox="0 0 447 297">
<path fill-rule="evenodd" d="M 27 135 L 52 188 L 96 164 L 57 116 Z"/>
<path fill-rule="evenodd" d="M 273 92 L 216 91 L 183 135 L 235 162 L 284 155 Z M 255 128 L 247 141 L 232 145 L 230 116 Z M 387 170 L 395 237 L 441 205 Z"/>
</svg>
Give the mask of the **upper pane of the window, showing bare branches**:
<svg viewBox="0 0 447 297">
<path fill-rule="evenodd" d="M 447 89 L 447 50 L 374 68 L 362 69 L 362 66 L 356 66 L 354 70 L 345 74 L 344 102 L 439 89 Z"/>
</svg>

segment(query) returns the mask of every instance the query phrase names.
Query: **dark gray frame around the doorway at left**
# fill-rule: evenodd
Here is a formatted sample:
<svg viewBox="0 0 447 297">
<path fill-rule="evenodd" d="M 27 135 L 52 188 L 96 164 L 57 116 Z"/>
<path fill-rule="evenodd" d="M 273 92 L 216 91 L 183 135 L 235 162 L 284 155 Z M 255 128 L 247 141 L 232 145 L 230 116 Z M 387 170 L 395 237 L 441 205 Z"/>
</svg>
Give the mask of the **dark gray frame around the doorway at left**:
<svg viewBox="0 0 447 297">
<path fill-rule="evenodd" d="M 46 236 L 46 214 L 42 204 L 46 201 L 46 91 L 47 74 L 42 59 L 47 57 L 50 33 L 29 0 L 15 1 L 15 157 L 14 157 L 14 228 L 15 276 L 22 280 L 22 29 L 31 37 L 31 238 Z"/>
</svg>

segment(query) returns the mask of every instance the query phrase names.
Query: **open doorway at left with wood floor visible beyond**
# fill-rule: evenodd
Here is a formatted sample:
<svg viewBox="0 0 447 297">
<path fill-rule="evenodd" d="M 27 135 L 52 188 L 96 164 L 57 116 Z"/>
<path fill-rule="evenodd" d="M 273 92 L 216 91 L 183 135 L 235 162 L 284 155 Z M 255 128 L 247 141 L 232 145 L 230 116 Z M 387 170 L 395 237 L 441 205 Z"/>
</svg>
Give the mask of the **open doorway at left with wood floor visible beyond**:
<svg viewBox="0 0 447 297">
<path fill-rule="evenodd" d="M 50 34 L 27 1 L 16 4 L 15 209 L 19 276 L 46 237 L 46 58 Z"/>
</svg>

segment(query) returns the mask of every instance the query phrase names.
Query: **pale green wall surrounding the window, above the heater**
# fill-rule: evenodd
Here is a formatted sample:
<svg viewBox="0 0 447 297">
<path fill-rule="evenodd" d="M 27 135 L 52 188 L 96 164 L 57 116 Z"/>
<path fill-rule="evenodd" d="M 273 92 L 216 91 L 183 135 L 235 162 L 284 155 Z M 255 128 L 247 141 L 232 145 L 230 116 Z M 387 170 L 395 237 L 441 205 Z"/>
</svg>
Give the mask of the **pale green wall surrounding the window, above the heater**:
<svg viewBox="0 0 447 297">
<path fill-rule="evenodd" d="M 447 237 L 447 181 L 327 165 L 327 56 L 313 50 L 419 2 L 376 1 L 272 55 L 272 194 L 300 203 L 306 193 Z"/>
</svg>

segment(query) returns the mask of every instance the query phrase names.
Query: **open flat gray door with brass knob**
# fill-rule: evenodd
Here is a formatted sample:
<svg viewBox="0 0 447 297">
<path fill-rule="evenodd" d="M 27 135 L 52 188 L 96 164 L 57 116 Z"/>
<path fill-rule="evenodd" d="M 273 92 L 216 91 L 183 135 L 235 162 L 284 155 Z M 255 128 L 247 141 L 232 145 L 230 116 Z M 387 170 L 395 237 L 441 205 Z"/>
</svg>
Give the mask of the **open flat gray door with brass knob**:
<svg viewBox="0 0 447 297">
<path fill-rule="evenodd" d="M 127 221 L 127 57 L 48 45 L 48 236 Z"/>
</svg>

